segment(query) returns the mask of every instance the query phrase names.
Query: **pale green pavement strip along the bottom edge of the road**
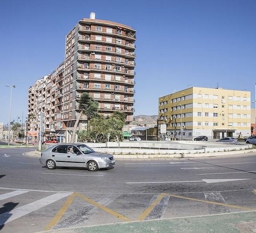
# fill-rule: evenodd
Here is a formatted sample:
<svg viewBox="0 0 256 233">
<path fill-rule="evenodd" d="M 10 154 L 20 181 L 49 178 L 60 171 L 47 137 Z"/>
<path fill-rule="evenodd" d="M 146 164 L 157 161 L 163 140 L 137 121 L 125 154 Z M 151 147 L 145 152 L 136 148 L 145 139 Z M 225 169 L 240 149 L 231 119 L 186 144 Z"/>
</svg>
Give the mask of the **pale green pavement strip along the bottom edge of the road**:
<svg viewBox="0 0 256 233">
<path fill-rule="evenodd" d="M 40 233 L 245 233 L 256 232 L 256 211 L 55 229 Z"/>
</svg>

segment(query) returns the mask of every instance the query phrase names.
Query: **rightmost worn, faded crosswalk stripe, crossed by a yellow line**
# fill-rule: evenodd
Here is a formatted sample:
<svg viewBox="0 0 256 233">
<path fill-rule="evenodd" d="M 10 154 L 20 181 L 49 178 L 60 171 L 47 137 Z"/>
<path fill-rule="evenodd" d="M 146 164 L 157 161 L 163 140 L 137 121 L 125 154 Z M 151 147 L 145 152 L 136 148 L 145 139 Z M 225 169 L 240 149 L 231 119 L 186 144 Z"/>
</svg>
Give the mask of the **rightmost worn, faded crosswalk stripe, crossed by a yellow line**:
<svg viewBox="0 0 256 233">
<path fill-rule="evenodd" d="M 227 204 L 221 193 L 204 193 L 204 197 L 207 201 L 218 201 L 219 203 Z M 210 205 L 207 204 L 208 210 L 210 214 L 216 213 L 229 213 L 229 209 L 227 206 L 218 206 L 218 205 Z"/>
</svg>

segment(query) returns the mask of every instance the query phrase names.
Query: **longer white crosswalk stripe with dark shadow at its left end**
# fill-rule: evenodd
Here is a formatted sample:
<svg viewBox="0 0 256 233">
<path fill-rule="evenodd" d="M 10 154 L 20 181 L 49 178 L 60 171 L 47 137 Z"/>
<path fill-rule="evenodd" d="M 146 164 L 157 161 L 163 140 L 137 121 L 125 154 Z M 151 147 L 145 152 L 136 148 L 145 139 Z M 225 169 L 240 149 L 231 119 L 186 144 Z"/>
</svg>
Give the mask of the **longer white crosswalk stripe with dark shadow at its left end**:
<svg viewBox="0 0 256 233">
<path fill-rule="evenodd" d="M 46 205 L 52 204 L 64 197 L 71 195 L 72 193 L 55 193 L 51 196 L 42 198 L 37 201 L 33 201 L 27 205 L 20 206 L 16 209 L 12 209 L 8 212 L 0 214 L 0 226 L 4 225 L 10 221 L 13 221 L 19 217 L 22 217 L 28 213 L 31 213 L 37 209 L 40 209 Z"/>
</svg>

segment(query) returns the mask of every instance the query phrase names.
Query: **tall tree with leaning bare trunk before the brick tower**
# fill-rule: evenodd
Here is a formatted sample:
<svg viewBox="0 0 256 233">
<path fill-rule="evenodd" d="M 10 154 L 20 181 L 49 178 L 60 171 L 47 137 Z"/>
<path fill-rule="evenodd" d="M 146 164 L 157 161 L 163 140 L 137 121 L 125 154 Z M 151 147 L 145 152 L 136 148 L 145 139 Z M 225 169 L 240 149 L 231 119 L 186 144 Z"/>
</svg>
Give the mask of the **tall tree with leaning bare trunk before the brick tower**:
<svg viewBox="0 0 256 233">
<path fill-rule="evenodd" d="M 88 129 L 88 122 L 89 119 L 91 119 L 93 116 L 97 116 L 98 115 L 98 102 L 93 100 L 93 98 L 91 96 L 89 96 L 89 94 L 87 92 L 84 92 L 81 97 L 79 102 L 79 110 L 80 113 L 77 117 L 77 120 L 75 122 L 75 125 L 73 127 L 73 134 L 71 137 L 71 143 L 75 142 L 75 138 L 76 138 L 76 132 L 77 132 L 77 126 L 79 124 L 79 121 L 81 119 L 82 115 L 87 116 L 87 129 Z"/>
</svg>

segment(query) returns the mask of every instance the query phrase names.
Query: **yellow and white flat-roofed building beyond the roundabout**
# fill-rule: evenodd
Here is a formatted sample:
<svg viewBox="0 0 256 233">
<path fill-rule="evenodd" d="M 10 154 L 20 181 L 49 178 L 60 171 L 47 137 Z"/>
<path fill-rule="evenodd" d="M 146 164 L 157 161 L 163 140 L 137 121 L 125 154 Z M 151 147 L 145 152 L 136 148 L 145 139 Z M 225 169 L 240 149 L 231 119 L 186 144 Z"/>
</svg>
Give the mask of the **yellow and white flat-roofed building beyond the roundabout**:
<svg viewBox="0 0 256 233">
<path fill-rule="evenodd" d="M 178 139 L 250 136 L 251 92 L 191 87 L 158 99 L 158 124 Z"/>
</svg>

